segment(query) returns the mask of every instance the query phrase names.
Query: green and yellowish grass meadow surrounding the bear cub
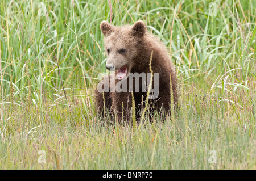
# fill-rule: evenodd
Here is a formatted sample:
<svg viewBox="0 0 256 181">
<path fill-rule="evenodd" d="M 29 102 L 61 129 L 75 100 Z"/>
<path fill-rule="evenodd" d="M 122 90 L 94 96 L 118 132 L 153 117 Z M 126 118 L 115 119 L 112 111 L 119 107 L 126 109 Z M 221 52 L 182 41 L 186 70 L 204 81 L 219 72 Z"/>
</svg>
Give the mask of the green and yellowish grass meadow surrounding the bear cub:
<svg viewBox="0 0 256 181">
<path fill-rule="evenodd" d="M 45 0 L 47 13 L 39 2 L 0 2 L 0 169 L 256 169 L 255 1 L 214 1 L 216 16 L 212 1 L 110 1 L 110 12 L 109 1 Z M 97 116 L 111 14 L 144 20 L 167 46 L 175 120 Z"/>
</svg>

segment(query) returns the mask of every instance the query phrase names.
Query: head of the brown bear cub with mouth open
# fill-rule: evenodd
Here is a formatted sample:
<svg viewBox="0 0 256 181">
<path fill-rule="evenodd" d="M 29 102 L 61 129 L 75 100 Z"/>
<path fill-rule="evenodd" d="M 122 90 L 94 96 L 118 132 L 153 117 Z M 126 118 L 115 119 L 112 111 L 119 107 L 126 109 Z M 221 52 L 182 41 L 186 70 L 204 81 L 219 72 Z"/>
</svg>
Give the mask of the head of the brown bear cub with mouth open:
<svg viewBox="0 0 256 181">
<path fill-rule="evenodd" d="M 143 49 L 143 37 L 147 27 L 143 21 L 135 22 L 133 26 L 112 26 L 103 21 L 100 25 L 104 38 L 105 50 L 108 54 L 106 69 L 117 70 L 119 80 L 125 78 L 134 66 L 134 58 Z"/>
</svg>

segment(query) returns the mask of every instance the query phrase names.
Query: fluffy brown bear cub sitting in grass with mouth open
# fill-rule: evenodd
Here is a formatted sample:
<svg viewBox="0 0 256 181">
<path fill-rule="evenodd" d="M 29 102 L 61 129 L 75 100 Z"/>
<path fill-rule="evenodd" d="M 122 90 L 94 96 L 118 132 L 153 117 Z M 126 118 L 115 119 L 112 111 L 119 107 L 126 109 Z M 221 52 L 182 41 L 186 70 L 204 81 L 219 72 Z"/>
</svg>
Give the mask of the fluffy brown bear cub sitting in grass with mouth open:
<svg viewBox="0 0 256 181">
<path fill-rule="evenodd" d="M 129 122 L 134 99 L 138 120 L 145 106 L 147 91 L 151 93 L 148 99 L 150 111 L 156 108 L 160 113 L 170 113 L 170 77 L 174 104 L 177 103 L 177 81 L 166 46 L 147 32 L 141 20 L 133 26 L 122 27 L 103 21 L 100 28 L 105 36 L 108 55 L 106 69 L 112 74 L 105 77 L 95 91 L 98 113 L 106 116 L 104 113 L 109 111 L 117 115 L 119 122 Z"/>
</svg>

